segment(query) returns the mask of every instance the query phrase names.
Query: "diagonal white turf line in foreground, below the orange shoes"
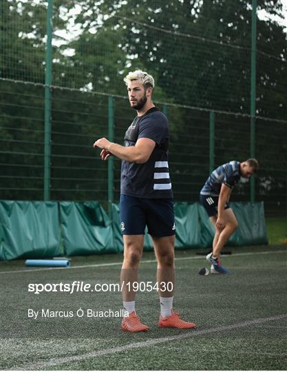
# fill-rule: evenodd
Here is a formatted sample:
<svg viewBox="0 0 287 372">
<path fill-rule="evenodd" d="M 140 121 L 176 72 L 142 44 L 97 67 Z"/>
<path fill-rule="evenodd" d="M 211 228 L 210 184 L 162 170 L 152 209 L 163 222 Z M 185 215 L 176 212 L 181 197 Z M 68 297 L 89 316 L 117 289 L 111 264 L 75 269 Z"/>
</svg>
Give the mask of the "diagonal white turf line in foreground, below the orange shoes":
<svg viewBox="0 0 287 372">
<path fill-rule="evenodd" d="M 36 369 L 44 369 L 47 367 L 64 364 L 64 363 L 72 363 L 72 362 L 79 362 L 81 360 L 87 360 L 89 358 L 97 358 L 101 355 L 109 355 L 109 354 L 115 354 L 115 353 L 121 353 L 122 351 L 127 351 L 131 349 L 142 349 L 143 347 L 151 347 L 156 344 L 161 344 L 163 342 L 169 342 L 169 341 L 177 341 L 177 340 L 183 340 L 184 338 L 193 338 L 200 335 L 206 335 L 208 333 L 215 333 L 215 332 L 222 332 L 222 331 L 230 331 L 231 329 L 237 329 L 237 328 L 243 328 L 252 326 L 253 324 L 261 324 L 264 322 L 272 322 L 274 320 L 280 320 L 287 318 L 287 314 L 281 314 L 279 316 L 270 316 L 268 318 L 259 318 L 259 319 L 253 319 L 253 320 L 245 320 L 244 322 L 240 322 L 237 324 L 230 324 L 223 327 L 215 327 L 210 329 L 202 329 L 202 331 L 187 331 L 184 333 L 180 333 L 180 335 L 173 335 L 173 336 L 167 336 L 162 338 L 153 338 L 151 340 L 142 341 L 142 342 L 133 342 L 132 344 L 126 344 L 120 347 L 113 347 L 110 349 L 103 349 L 99 351 L 94 351 L 92 353 L 85 353 L 82 355 L 72 355 L 69 357 L 60 357 L 60 358 L 52 358 L 50 360 L 46 360 L 43 362 L 37 362 L 34 364 L 22 364 L 21 366 L 14 366 L 10 370 L 36 370 Z"/>
</svg>

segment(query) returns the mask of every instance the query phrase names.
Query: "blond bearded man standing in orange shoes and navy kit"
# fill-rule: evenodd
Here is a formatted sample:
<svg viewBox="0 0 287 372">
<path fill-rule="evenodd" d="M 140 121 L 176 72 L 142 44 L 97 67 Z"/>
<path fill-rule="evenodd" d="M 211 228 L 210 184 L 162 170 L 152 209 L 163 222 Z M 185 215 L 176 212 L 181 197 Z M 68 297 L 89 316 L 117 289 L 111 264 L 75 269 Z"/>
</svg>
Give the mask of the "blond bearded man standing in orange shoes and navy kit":
<svg viewBox="0 0 287 372">
<path fill-rule="evenodd" d="M 157 282 L 160 294 L 159 327 L 195 328 L 173 312 L 174 241 L 176 225 L 173 192 L 169 177 L 167 118 L 153 105 L 153 77 L 140 70 L 124 79 L 129 103 L 137 112 L 125 133 L 124 146 L 100 138 L 100 156 L 106 161 L 114 155 L 122 160 L 120 182 L 120 220 L 124 241 L 124 261 L 120 275 L 123 305 L 129 316 L 123 318 L 124 331 L 147 331 L 135 310 L 138 265 L 142 257 L 145 227 L 153 240 L 158 261 Z"/>
</svg>

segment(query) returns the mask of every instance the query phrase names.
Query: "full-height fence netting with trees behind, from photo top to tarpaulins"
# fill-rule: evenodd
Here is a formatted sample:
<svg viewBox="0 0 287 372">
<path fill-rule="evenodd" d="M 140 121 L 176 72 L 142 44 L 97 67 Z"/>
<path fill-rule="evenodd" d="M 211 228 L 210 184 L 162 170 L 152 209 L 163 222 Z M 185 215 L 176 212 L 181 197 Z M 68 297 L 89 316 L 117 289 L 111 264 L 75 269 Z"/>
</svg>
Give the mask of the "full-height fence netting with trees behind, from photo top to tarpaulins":
<svg viewBox="0 0 287 372">
<path fill-rule="evenodd" d="M 111 119 L 114 141 L 123 143 L 135 114 L 124 98 L 123 76 L 142 68 L 155 77 L 155 102 L 169 118 L 176 201 L 197 201 L 209 175 L 214 110 L 214 166 L 245 160 L 255 145 L 255 200 L 264 200 L 268 214 L 285 213 L 286 29 L 259 17 L 262 10 L 284 14 L 283 1 L 257 0 L 255 143 L 248 115 L 251 1 L 54 0 L 51 101 L 44 85 L 47 4 L 0 2 L 0 199 L 43 199 L 46 111 L 50 199 L 99 200 L 106 208 L 107 164 L 92 144 L 108 136 Z M 119 186 L 115 161 L 110 201 L 118 200 Z M 249 185 L 240 185 L 232 198 L 248 201 L 250 195 Z"/>
</svg>

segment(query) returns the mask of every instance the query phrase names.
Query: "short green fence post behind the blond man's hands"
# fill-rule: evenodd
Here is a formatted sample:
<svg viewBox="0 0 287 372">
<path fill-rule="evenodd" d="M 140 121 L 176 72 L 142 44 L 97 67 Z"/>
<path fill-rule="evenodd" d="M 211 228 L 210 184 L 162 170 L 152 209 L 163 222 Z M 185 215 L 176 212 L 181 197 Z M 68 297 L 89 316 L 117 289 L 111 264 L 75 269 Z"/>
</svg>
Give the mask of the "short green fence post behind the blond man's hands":
<svg viewBox="0 0 287 372">
<path fill-rule="evenodd" d="M 111 96 L 108 99 L 108 117 L 109 141 L 114 142 L 114 98 Z M 107 162 L 107 198 L 108 213 L 111 219 L 111 203 L 114 202 L 114 156 L 111 156 Z"/>
</svg>

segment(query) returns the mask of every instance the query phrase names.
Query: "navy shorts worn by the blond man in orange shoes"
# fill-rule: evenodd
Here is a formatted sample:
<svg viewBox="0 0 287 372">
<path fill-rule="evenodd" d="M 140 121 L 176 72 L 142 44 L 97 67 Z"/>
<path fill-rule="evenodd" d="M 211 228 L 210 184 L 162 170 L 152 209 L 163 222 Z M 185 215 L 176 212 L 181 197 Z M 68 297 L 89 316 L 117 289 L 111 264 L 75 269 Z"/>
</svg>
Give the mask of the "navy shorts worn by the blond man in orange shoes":
<svg viewBox="0 0 287 372">
<path fill-rule="evenodd" d="M 144 235 L 162 238 L 176 234 L 172 199 L 146 199 L 120 196 L 120 229 L 123 235 Z"/>
</svg>

